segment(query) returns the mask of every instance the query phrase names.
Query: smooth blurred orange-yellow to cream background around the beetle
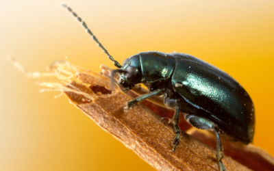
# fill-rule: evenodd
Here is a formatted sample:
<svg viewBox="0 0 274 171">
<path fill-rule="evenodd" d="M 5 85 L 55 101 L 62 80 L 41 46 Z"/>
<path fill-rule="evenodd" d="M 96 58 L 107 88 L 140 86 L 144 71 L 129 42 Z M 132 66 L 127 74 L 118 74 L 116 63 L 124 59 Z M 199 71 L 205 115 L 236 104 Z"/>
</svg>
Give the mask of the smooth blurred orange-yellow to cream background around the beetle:
<svg viewBox="0 0 274 171">
<path fill-rule="evenodd" d="M 274 1 L 80 0 L 65 3 L 120 63 L 142 51 L 195 55 L 225 70 L 256 109 L 254 144 L 274 155 Z M 154 170 L 30 71 L 64 60 L 99 72 L 112 62 L 60 1 L 0 1 L 0 170 Z"/>
</svg>

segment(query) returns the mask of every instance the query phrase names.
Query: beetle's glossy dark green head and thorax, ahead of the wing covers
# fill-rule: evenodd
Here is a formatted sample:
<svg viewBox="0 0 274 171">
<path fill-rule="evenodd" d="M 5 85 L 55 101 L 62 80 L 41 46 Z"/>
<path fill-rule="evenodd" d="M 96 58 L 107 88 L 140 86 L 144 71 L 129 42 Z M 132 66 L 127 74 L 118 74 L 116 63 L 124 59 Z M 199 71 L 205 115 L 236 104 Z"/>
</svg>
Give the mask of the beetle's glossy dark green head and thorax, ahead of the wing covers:
<svg viewBox="0 0 274 171">
<path fill-rule="evenodd" d="M 119 84 L 128 89 L 136 83 L 164 81 L 173 73 L 174 64 L 171 54 L 155 51 L 138 53 L 123 62 Z"/>
</svg>

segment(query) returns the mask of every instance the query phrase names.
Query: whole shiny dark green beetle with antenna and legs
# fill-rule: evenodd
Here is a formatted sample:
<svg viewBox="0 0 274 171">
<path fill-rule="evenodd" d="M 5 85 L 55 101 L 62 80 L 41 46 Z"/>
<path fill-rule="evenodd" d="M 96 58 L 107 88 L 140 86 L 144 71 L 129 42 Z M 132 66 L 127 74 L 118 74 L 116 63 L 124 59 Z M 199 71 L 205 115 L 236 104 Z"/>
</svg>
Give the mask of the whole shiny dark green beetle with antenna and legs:
<svg viewBox="0 0 274 171">
<path fill-rule="evenodd" d="M 138 96 L 125 104 L 130 109 L 140 101 L 151 96 L 164 96 L 164 105 L 175 109 L 169 122 L 173 124 L 175 137 L 173 152 L 179 145 L 179 115 L 193 127 L 214 131 L 216 134 L 216 159 L 220 170 L 225 170 L 221 159 L 223 146 L 220 134 L 230 140 L 249 144 L 253 141 L 255 129 L 255 111 L 253 102 L 240 84 L 219 68 L 197 57 L 185 53 L 161 53 L 158 51 L 141 52 L 127 58 L 119 64 L 99 42 L 82 18 L 71 8 L 62 4 L 92 36 L 103 52 L 118 69 L 112 70 L 112 79 L 119 73 L 119 86 L 125 91 L 142 83 L 149 94 Z"/>
</svg>

